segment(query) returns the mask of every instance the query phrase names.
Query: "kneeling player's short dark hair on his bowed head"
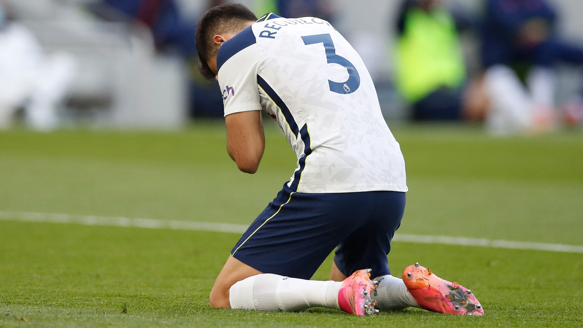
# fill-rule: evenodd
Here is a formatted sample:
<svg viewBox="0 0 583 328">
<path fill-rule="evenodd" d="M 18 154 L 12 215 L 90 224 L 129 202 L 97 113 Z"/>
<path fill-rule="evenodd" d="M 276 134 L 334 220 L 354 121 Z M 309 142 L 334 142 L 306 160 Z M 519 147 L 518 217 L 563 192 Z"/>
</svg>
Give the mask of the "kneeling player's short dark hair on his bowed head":
<svg viewBox="0 0 583 328">
<path fill-rule="evenodd" d="M 213 37 L 221 33 L 241 32 L 247 27 L 248 22 L 256 20 L 255 14 L 241 4 L 218 5 L 202 15 L 196 25 L 196 51 L 201 61 L 198 71 L 205 79 L 215 77 L 207 63 L 217 52 Z"/>
</svg>

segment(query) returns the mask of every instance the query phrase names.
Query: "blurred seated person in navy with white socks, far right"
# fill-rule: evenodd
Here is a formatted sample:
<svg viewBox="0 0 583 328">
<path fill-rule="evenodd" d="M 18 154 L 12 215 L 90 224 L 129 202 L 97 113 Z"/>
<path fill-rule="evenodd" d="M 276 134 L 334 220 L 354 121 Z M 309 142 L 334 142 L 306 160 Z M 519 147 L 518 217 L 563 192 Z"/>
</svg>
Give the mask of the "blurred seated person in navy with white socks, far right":
<svg viewBox="0 0 583 328">
<path fill-rule="evenodd" d="M 493 134 L 551 130 L 557 61 L 583 64 L 583 48 L 559 40 L 544 0 L 487 0 L 483 26 L 486 125 Z M 568 119 L 577 120 L 581 106 Z"/>
</svg>

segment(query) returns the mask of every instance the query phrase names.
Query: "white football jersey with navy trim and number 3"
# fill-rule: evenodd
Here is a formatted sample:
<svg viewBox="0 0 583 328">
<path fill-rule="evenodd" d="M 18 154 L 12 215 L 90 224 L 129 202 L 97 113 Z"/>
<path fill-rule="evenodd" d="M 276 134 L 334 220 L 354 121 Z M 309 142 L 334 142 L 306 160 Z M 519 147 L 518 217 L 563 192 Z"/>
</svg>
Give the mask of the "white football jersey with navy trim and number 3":
<svg viewBox="0 0 583 328">
<path fill-rule="evenodd" d="M 217 54 L 224 115 L 265 110 L 297 155 L 300 193 L 407 191 L 405 160 L 354 48 L 325 20 L 269 13 Z"/>
</svg>

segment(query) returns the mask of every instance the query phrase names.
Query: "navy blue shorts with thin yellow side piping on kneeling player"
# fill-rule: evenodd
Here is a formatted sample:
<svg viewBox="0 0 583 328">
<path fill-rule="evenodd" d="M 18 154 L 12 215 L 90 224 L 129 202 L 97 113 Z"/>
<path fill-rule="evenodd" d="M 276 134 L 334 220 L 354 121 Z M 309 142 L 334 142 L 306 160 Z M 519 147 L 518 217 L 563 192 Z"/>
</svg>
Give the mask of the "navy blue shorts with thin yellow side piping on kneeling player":
<svg viewBox="0 0 583 328">
<path fill-rule="evenodd" d="M 332 252 L 340 272 L 390 274 L 387 254 L 401 225 L 405 193 L 296 193 L 278 196 L 243 233 L 231 254 L 262 273 L 310 279 Z"/>
</svg>

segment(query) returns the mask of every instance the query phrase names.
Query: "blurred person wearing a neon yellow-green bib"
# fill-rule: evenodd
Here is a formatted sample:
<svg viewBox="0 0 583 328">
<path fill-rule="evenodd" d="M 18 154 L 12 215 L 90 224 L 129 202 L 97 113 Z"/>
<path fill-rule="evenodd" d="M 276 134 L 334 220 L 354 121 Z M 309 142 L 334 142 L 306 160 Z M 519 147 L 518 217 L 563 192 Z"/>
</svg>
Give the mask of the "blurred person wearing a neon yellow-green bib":
<svg viewBox="0 0 583 328">
<path fill-rule="evenodd" d="M 458 29 L 438 0 L 406 0 L 397 19 L 396 86 L 415 120 L 459 120 L 466 78 Z"/>
</svg>

